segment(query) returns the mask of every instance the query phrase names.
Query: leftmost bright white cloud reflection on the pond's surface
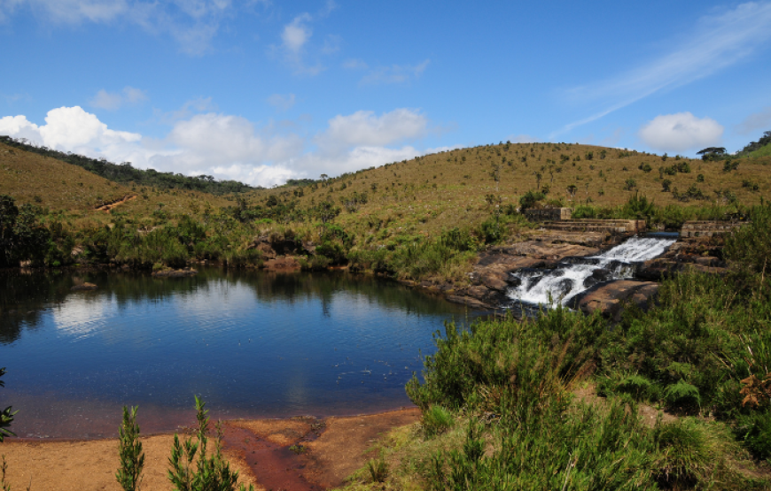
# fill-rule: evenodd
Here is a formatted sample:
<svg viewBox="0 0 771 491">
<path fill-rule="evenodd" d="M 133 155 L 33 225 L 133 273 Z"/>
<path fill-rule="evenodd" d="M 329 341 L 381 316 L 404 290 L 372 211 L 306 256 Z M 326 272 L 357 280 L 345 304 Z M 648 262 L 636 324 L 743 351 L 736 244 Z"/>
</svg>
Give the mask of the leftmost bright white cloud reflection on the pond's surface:
<svg viewBox="0 0 771 491">
<path fill-rule="evenodd" d="M 112 295 L 74 295 L 51 309 L 54 325 L 61 334 L 88 338 L 105 326 L 105 317 L 117 303 Z"/>
</svg>

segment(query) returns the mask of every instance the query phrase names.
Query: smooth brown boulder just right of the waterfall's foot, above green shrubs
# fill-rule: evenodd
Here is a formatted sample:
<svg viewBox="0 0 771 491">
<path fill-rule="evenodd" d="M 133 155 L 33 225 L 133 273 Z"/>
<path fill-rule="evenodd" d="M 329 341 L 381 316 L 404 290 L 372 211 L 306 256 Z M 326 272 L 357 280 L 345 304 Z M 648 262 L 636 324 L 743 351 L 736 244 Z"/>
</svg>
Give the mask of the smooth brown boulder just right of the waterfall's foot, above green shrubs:
<svg viewBox="0 0 771 491">
<path fill-rule="evenodd" d="M 585 314 L 600 311 L 604 317 L 618 322 L 625 307 L 636 305 L 647 310 L 655 301 L 658 287 L 658 283 L 652 281 L 611 281 L 577 295 L 570 306 Z"/>
</svg>

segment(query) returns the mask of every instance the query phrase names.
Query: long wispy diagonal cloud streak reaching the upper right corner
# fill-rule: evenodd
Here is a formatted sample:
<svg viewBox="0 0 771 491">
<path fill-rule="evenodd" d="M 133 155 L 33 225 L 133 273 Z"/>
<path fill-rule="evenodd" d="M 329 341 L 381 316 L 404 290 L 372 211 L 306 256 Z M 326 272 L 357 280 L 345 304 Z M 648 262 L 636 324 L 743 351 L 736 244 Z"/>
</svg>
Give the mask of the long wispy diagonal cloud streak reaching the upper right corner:
<svg viewBox="0 0 771 491">
<path fill-rule="evenodd" d="M 572 88 L 568 96 L 600 102 L 605 109 L 552 135 L 603 118 L 660 90 L 677 88 L 716 73 L 767 47 L 771 39 L 771 2 L 750 2 L 720 15 L 699 19 L 697 27 L 672 50 L 650 63 L 592 86 Z"/>
</svg>

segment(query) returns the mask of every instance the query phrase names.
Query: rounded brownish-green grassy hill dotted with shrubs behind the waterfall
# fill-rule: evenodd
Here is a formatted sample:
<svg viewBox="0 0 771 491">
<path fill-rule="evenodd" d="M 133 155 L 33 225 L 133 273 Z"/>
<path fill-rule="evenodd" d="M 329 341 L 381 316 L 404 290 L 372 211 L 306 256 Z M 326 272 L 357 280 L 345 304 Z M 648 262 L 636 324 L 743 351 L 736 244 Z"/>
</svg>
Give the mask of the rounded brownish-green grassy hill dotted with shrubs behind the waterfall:
<svg viewBox="0 0 771 491">
<path fill-rule="evenodd" d="M 527 191 L 541 188 L 548 188 L 543 203 L 570 207 L 617 207 L 638 192 L 662 206 L 754 204 L 761 196 L 771 197 L 771 157 L 742 159 L 734 170 L 724 170 L 726 162 L 579 144 L 502 143 L 245 196 L 250 205 L 266 209 L 269 203 L 295 209 L 335 203 L 343 209 L 336 219 L 341 226 L 376 238 L 476 226 L 490 216 L 498 197 L 502 208 L 516 207 Z M 354 205 L 347 210 L 346 203 Z"/>
</svg>

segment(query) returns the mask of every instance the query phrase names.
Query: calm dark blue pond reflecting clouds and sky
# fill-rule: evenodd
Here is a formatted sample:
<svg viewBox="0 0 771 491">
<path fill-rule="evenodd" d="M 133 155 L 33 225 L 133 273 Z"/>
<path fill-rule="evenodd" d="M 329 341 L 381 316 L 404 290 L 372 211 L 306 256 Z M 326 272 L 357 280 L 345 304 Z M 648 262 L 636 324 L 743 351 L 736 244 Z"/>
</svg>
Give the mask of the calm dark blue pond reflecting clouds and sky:
<svg viewBox="0 0 771 491">
<path fill-rule="evenodd" d="M 73 292 L 75 280 L 96 283 Z M 214 418 L 343 415 L 410 405 L 404 384 L 432 333 L 467 313 L 396 283 L 345 272 L 203 269 L 0 273 L 0 404 L 21 437 L 101 437 L 121 406 L 143 433 Z"/>
</svg>

